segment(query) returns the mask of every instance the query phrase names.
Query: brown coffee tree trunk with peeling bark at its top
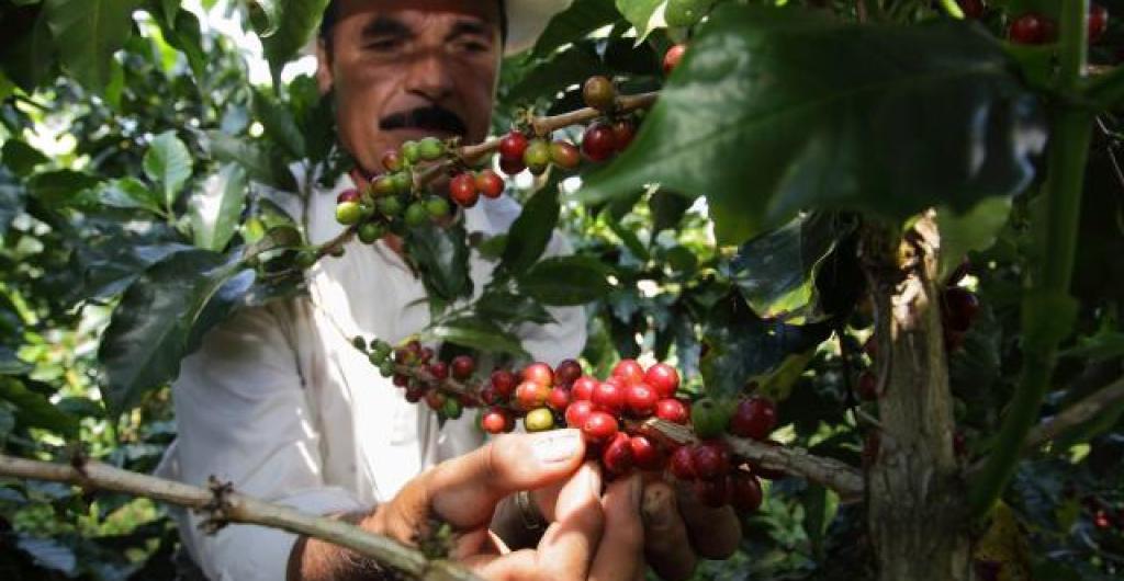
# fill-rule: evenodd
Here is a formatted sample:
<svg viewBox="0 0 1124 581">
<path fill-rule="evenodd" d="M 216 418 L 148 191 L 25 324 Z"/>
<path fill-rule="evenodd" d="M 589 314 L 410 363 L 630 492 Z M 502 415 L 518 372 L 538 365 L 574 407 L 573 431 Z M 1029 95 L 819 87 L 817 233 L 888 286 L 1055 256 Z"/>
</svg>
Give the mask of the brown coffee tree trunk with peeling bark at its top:
<svg viewBox="0 0 1124 581">
<path fill-rule="evenodd" d="M 940 234 L 932 212 L 904 239 L 870 231 L 878 452 L 867 470 L 868 526 L 881 581 L 971 579 L 966 498 L 941 325 Z"/>
</svg>

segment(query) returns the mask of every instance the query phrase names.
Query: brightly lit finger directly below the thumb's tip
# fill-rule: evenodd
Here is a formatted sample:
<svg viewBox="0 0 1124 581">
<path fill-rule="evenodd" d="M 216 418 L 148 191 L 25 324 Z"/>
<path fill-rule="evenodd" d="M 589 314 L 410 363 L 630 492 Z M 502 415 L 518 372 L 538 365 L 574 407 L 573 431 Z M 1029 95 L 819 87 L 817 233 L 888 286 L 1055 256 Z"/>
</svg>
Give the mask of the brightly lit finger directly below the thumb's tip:
<svg viewBox="0 0 1124 581">
<path fill-rule="evenodd" d="M 592 462 L 559 492 L 552 523 L 538 543 L 538 564 L 545 579 L 586 579 L 593 551 L 602 537 L 601 476 Z"/>
</svg>

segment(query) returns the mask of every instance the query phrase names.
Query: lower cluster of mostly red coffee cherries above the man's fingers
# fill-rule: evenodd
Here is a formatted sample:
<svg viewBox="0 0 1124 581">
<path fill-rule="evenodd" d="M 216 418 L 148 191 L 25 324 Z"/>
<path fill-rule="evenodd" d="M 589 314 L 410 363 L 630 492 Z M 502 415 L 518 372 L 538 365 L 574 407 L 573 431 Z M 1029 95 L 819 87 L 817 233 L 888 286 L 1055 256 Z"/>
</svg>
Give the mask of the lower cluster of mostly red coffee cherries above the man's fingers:
<svg viewBox="0 0 1124 581">
<path fill-rule="evenodd" d="M 511 432 L 519 422 L 527 432 L 580 430 L 589 457 L 611 477 L 668 469 L 691 482 L 704 504 L 751 511 L 762 501 L 759 478 L 783 476 L 738 461 L 722 440 L 729 433 L 779 445 L 768 440 L 777 425 L 771 402 L 751 397 L 718 405 L 705 398 L 691 406 L 677 397 L 679 372 L 667 363 L 644 369 L 626 359 L 599 380 L 571 359 L 554 368 L 534 362 L 518 372 L 496 369 L 481 379 L 474 377 L 475 361 L 469 356 L 441 361 L 417 341 L 397 349 L 362 338 L 354 343 L 384 377 L 405 389 L 407 400 L 425 402 L 443 418 L 460 417 L 465 407 L 481 407 L 480 427 L 491 434 Z M 653 421 L 691 430 L 680 428 L 676 436 L 653 426 Z M 691 434 L 690 441 L 682 440 L 685 433 Z"/>
</svg>

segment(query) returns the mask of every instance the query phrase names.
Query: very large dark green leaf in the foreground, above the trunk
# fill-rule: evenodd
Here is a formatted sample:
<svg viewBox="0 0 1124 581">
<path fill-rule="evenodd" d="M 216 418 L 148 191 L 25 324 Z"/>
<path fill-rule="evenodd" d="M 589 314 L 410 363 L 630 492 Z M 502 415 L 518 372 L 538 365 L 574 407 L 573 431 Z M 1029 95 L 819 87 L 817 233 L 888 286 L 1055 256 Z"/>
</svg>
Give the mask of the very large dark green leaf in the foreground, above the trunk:
<svg viewBox="0 0 1124 581">
<path fill-rule="evenodd" d="M 963 212 L 1025 187 L 1043 141 L 1036 100 L 981 28 L 723 4 L 579 196 L 703 194 L 719 242 L 740 243 L 803 209 Z"/>
</svg>

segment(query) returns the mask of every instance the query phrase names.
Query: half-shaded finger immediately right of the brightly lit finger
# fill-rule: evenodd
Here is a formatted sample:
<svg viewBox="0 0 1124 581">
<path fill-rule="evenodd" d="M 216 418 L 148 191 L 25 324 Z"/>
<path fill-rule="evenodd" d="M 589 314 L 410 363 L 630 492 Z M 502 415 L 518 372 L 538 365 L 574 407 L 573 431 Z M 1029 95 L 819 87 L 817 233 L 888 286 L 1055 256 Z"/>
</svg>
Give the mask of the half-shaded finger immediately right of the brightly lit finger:
<svg viewBox="0 0 1124 581">
<path fill-rule="evenodd" d="M 638 474 L 609 485 L 601 499 L 605 534 L 590 566 L 590 581 L 633 581 L 644 566 L 644 526 L 640 520 Z"/>
</svg>

